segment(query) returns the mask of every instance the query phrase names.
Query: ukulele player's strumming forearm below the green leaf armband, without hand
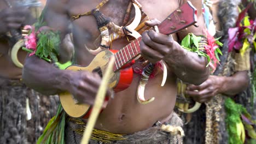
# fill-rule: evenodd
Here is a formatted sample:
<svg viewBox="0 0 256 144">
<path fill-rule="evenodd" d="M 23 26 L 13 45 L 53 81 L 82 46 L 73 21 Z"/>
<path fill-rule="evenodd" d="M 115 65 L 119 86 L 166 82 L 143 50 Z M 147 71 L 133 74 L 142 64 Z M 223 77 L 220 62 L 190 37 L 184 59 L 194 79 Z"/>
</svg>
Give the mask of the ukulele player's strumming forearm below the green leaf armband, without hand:
<svg viewBox="0 0 256 144">
<path fill-rule="evenodd" d="M 27 57 L 22 71 L 22 81 L 36 91 L 51 95 L 65 91 L 68 73 L 36 56 Z"/>
</svg>

